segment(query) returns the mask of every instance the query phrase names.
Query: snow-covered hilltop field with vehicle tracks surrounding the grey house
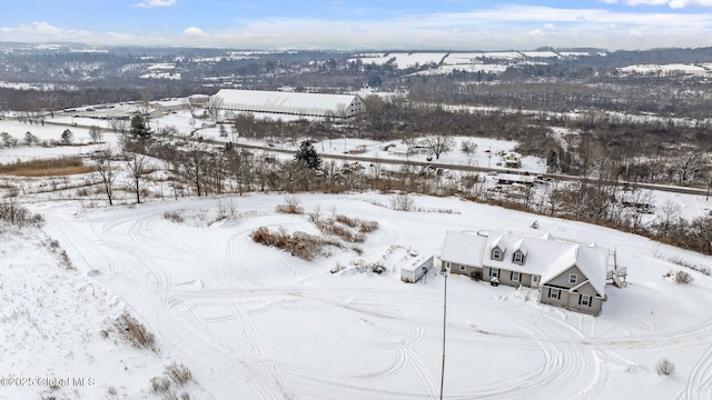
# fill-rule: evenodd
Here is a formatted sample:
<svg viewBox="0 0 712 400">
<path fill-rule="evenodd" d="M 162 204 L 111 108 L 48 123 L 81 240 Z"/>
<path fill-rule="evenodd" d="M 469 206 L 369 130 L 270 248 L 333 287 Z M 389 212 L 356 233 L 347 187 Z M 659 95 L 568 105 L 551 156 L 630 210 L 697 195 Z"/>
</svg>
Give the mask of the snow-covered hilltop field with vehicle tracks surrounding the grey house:
<svg viewBox="0 0 712 400">
<path fill-rule="evenodd" d="M 187 199 L 87 209 L 32 206 L 76 268 L 33 234 L 3 234 L 2 376 L 85 377 L 93 384 L 0 387 L 0 398 L 158 398 L 149 379 L 180 362 L 212 399 L 434 399 L 443 361 L 445 278 L 403 283 L 414 250 L 437 254 L 447 231 L 511 230 L 615 248 L 629 286 L 606 287 L 600 317 L 542 306 L 528 289 L 447 279 L 444 393 L 448 399 L 708 399 L 712 396 L 712 278 L 663 276 L 710 258 L 578 222 L 452 198 L 414 197 L 394 211 L 375 193 L 303 194 L 320 208 L 377 221 L 363 254 L 332 249 L 304 261 L 254 243 L 259 227 L 314 232 L 306 214 L 279 214 L 283 194 Z M 234 217 L 216 219 L 218 201 Z M 184 222 L 165 218 L 184 217 Z M 533 220 L 540 229 L 530 228 Z M 383 274 L 358 260 L 380 261 Z M 345 267 L 330 273 L 337 264 Z M 137 350 L 100 330 L 128 309 L 157 337 Z M 660 377 L 668 358 L 676 373 Z M 116 396 L 108 394 L 109 387 Z"/>
</svg>

